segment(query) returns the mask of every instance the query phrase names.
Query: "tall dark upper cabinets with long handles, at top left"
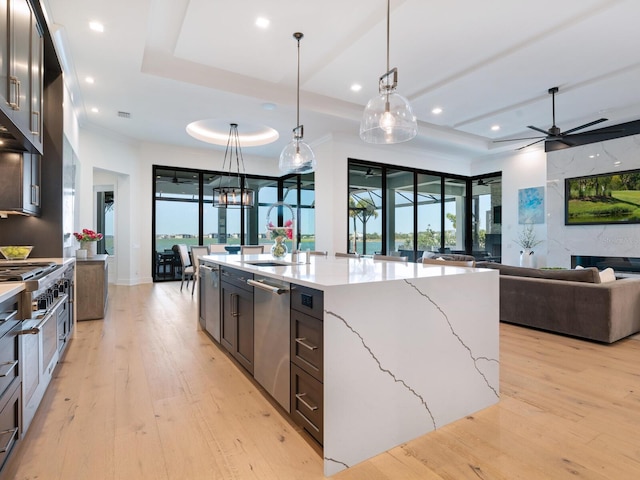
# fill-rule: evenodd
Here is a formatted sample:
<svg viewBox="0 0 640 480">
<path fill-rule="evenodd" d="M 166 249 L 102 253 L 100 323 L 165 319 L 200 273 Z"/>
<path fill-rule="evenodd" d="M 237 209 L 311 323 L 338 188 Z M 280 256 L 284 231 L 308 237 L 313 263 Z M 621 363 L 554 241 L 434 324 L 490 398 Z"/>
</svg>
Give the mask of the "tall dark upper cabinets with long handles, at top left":
<svg viewBox="0 0 640 480">
<path fill-rule="evenodd" d="M 0 0 L 0 31 L 0 109 L 42 153 L 44 43 L 27 0 Z"/>
</svg>

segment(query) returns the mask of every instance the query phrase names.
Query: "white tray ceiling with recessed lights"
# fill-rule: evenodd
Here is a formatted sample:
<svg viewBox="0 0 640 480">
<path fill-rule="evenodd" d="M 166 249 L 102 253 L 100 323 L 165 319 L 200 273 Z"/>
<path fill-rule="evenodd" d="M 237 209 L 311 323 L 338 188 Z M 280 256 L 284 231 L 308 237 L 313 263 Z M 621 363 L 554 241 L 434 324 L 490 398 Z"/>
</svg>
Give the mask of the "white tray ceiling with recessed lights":
<svg viewBox="0 0 640 480">
<path fill-rule="evenodd" d="M 134 139 L 202 148 L 185 131 L 193 121 L 235 122 L 240 133 L 268 125 L 278 141 L 243 149 L 278 157 L 296 126 L 297 31 L 300 119 L 312 145 L 357 135 L 386 72 L 384 0 L 42 3 L 81 124 Z M 267 29 L 255 26 L 259 16 Z M 392 0 L 390 66 L 419 121 L 411 142 L 476 157 L 515 149 L 529 142 L 492 140 L 548 129 L 554 86 L 562 130 L 640 119 L 639 19 L 637 0 Z"/>
</svg>

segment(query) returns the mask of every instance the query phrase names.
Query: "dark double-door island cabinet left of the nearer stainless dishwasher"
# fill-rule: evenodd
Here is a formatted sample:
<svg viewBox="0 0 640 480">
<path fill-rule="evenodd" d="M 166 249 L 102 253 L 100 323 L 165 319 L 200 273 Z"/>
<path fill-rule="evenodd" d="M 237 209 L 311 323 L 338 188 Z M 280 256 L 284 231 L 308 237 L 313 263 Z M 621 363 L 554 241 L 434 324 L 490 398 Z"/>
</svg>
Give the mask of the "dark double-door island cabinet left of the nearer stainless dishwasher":
<svg viewBox="0 0 640 480">
<path fill-rule="evenodd" d="M 220 343 L 253 375 L 253 275 L 221 267 L 220 279 Z"/>
</svg>

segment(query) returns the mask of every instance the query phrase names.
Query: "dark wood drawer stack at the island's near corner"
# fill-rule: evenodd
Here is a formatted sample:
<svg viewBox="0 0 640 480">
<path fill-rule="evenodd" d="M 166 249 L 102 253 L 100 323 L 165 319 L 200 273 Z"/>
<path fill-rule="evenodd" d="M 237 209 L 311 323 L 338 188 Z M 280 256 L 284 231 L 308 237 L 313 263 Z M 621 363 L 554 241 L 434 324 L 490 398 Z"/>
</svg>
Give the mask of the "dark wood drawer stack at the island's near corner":
<svg viewBox="0 0 640 480">
<path fill-rule="evenodd" d="M 291 288 L 291 415 L 323 442 L 323 293 Z"/>
</svg>

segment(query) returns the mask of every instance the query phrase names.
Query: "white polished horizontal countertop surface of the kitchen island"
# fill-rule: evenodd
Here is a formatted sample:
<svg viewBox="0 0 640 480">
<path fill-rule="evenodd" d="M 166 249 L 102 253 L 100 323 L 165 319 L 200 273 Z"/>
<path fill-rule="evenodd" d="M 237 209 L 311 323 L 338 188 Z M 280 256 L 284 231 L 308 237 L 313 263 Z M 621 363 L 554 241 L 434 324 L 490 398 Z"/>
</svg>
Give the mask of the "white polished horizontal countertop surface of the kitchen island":
<svg viewBox="0 0 640 480">
<path fill-rule="evenodd" d="M 457 266 L 423 265 L 421 263 L 390 262 L 372 258 L 346 258 L 311 256 L 309 264 L 291 264 L 291 255 L 283 260 L 275 260 L 270 254 L 263 255 L 206 255 L 205 261 L 238 268 L 254 274 L 295 282 L 320 288 L 340 285 L 364 284 L 410 280 L 416 278 L 442 277 L 449 275 L 493 275 L 490 269 Z M 275 261 L 287 263 L 283 266 L 257 266 L 253 262 Z"/>
</svg>

